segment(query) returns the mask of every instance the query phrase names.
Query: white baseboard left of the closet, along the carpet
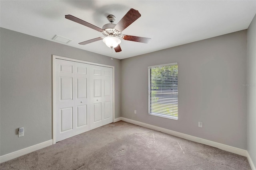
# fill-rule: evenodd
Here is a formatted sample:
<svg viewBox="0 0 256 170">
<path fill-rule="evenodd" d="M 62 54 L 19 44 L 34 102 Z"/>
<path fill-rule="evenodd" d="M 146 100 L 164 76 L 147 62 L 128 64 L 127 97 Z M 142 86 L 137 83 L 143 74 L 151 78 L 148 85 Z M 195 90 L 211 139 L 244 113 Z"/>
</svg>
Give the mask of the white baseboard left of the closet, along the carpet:
<svg viewBox="0 0 256 170">
<path fill-rule="evenodd" d="M 42 149 L 42 148 L 48 147 L 48 146 L 52 145 L 52 142 L 53 142 L 52 140 L 45 141 L 45 142 L 33 145 L 31 147 L 20 149 L 20 150 L 17 150 L 17 151 L 5 154 L 3 156 L 0 156 L 0 163 L 6 162 L 7 160 L 11 160 L 11 159 L 17 158 L 17 157 L 22 156 L 24 154 L 28 154 L 30 152 L 34 152 L 34 151 L 36 151 L 38 149 Z"/>
</svg>

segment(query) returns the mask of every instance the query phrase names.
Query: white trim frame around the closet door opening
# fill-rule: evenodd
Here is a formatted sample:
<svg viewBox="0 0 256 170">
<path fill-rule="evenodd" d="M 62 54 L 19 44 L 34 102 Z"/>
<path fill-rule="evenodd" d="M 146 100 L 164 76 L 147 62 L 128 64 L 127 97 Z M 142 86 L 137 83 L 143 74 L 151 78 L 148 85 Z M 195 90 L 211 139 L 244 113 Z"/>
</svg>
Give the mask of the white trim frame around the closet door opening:
<svg viewBox="0 0 256 170">
<path fill-rule="evenodd" d="M 105 65 L 105 64 L 99 64 L 99 63 L 92 63 L 89 61 L 83 61 L 83 60 L 77 60 L 77 59 L 72 59 L 68 57 L 61 57 L 57 55 L 52 55 L 52 140 L 53 144 L 56 143 L 56 117 L 55 117 L 55 61 L 56 59 L 61 59 L 61 60 L 67 60 L 67 61 L 74 61 L 78 63 L 85 63 L 85 64 L 92 64 L 96 66 L 104 66 L 104 67 L 110 67 L 113 68 L 113 122 L 115 119 L 115 67 L 110 66 L 110 65 Z"/>
</svg>

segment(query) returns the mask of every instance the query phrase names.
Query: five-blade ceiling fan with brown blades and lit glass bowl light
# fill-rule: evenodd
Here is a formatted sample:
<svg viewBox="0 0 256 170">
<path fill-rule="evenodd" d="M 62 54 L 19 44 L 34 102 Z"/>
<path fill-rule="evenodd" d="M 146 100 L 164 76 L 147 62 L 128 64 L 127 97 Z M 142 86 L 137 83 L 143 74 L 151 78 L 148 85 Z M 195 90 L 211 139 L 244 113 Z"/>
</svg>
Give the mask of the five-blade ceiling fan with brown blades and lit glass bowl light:
<svg viewBox="0 0 256 170">
<path fill-rule="evenodd" d="M 134 21 L 136 21 L 138 18 L 140 18 L 140 16 L 141 15 L 138 12 L 138 10 L 134 10 L 131 8 L 117 24 L 114 24 L 113 22 L 116 20 L 116 17 L 113 15 L 109 15 L 107 18 L 110 23 L 103 25 L 102 29 L 100 27 L 92 25 L 91 23 L 76 18 L 72 15 L 65 15 L 65 18 L 85 25 L 86 27 L 95 29 L 96 31 L 102 32 L 102 34 L 104 35 L 104 37 L 98 37 L 87 41 L 83 41 L 79 43 L 80 45 L 86 45 L 103 39 L 103 42 L 108 47 L 114 48 L 116 52 L 120 52 L 122 51 L 119 45 L 121 43 L 121 39 L 128 41 L 136 41 L 140 43 L 150 42 L 151 38 L 137 37 L 132 35 L 122 35 L 122 31 L 126 29 L 126 27 L 131 25 Z"/>
</svg>

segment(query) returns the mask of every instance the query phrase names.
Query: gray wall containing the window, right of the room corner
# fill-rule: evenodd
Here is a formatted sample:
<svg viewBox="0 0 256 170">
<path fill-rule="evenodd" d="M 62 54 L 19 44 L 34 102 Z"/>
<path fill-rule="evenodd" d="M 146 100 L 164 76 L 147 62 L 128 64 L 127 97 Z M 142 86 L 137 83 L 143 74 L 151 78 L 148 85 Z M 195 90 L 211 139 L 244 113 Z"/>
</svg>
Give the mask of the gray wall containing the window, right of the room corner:
<svg viewBox="0 0 256 170">
<path fill-rule="evenodd" d="M 178 120 L 148 115 L 148 66 L 175 62 Z M 121 69 L 122 117 L 246 149 L 246 30 L 123 59 Z"/>
</svg>

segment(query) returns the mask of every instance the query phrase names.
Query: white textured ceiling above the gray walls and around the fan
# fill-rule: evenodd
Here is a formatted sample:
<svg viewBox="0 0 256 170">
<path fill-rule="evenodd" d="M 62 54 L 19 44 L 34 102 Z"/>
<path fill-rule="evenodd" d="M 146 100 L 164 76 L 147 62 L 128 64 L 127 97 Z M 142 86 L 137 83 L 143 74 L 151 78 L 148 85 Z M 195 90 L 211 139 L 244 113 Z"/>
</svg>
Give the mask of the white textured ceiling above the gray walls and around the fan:
<svg viewBox="0 0 256 170">
<path fill-rule="evenodd" d="M 122 34 L 152 38 L 149 44 L 122 40 L 122 51 L 112 53 L 102 41 L 78 43 L 102 37 L 102 33 L 65 19 L 72 15 L 101 27 L 106 16 L 115 23 L 130 8 L 141 17 Z M 0 1 L 0 26 L 50 41 L 54 35 L 72 39 L 69 46 L 125 59 L 177 45 L 247 29 L 256 14 L 256 1 L 84 0 Z"/>
</svg>

